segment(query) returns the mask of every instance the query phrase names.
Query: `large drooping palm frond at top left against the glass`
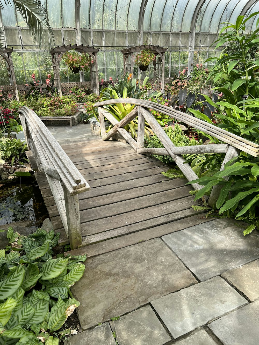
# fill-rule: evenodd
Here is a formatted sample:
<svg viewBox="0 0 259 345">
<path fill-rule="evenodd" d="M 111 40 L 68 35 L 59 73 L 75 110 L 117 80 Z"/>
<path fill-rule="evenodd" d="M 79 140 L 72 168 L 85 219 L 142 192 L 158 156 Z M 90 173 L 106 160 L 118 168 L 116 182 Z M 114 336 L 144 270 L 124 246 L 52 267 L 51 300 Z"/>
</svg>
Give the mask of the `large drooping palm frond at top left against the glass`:
<svg viewBox="0 0 259 345">
<path fill-rule="evenodd" d="M 10 0 L 4 0 L 10 1 Z M 27 27 L 31 30 L 34 41 L 41 47 L 42 37 L 45 31 L 48 32 L 49 42 L 55 41 L 54 34 L 50 28 L 46 9 L 40 0 L 12 0 L 15 9 L 21 14 Z"/>
</svg>

